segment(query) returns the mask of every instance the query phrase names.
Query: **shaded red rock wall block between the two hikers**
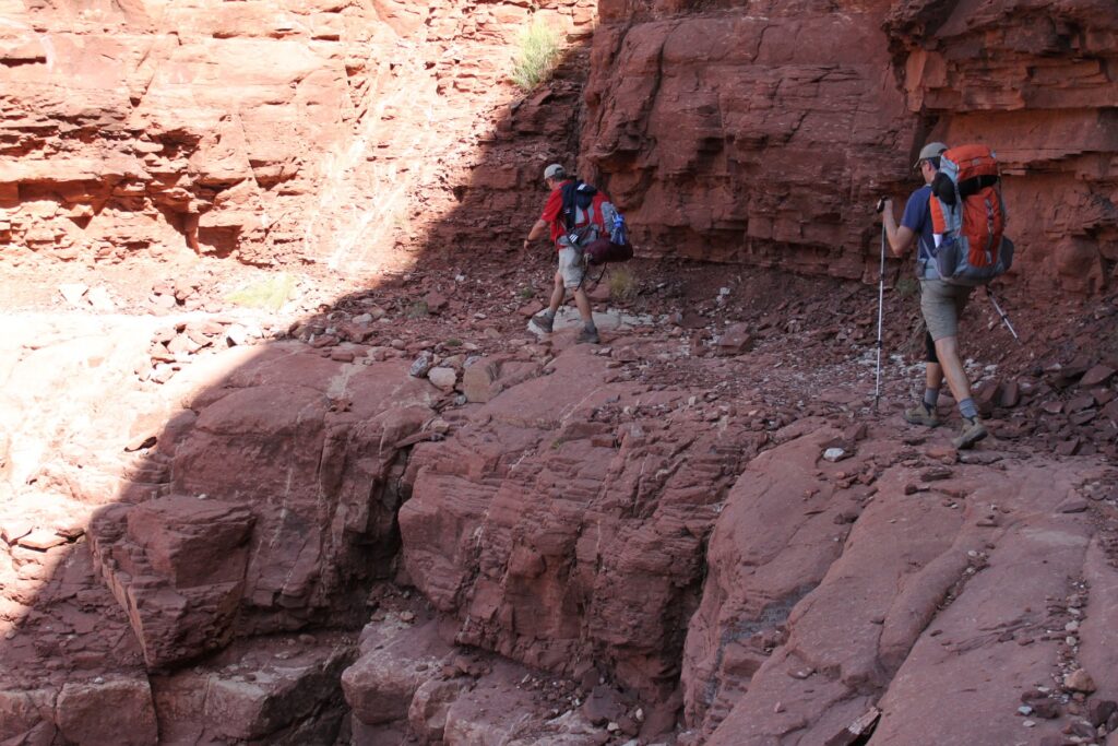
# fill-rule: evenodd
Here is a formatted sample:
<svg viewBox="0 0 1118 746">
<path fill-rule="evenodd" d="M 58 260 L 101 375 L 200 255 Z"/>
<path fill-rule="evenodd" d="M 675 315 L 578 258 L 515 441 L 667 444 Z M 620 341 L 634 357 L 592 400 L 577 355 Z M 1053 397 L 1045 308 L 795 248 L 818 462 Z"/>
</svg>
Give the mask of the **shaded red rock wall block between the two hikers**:
<svg viewBox="0 0 1118 746">
<path fill-rule="evenodd" d="M 881 11 L 612 17 L 595 37 L 582 152 L 642 246 L 860 277 L 865 204 L 903 179 L 917 135 Z"/>
</svg>

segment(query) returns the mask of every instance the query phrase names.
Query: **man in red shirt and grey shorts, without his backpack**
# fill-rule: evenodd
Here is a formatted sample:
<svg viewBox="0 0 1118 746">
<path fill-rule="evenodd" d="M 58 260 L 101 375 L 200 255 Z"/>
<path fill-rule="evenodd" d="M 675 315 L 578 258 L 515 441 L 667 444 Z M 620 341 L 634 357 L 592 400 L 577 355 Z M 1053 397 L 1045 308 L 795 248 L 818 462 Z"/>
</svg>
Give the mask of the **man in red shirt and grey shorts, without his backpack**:
<svg viewBox="0 0 1118 746">
<path fill-rule="evenodd" d="M 603 207 L 609 202 L 609 198 L 605 192 L 569 178 L 559 163 L 552 163 L 543 170 L 543 181 L 551 193 L 548 195 L 540 219 L 524 239 L 524 248 L 527 249 L 531 242 L 542 238 L 550 229 L 548 235 L 559 254 L 559 270 L 555 276 L 551 302 L 547 309 L 532 317 L 532 323 L 543 332 L 550 333 L 556 312 L 566 300 L 567 291 L 571 291 L 578 313 L 582 318 L 582 330 L 576 341 L 597 344 L 598 329 L 594 324 L 590 300 L 582 290 L 582 281 L 586 277 L 584 248 L 596 239 L 599 233 L 605 232 L 607 224 Z"/>
</svg>

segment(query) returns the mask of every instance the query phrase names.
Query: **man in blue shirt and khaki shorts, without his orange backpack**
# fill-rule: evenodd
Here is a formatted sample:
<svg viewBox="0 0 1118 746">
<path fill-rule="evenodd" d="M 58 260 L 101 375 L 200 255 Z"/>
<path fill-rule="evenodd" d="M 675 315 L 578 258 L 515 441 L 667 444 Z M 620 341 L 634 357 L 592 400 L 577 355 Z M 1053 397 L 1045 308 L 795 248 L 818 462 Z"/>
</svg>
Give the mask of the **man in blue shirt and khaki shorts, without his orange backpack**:
<svg viewBox="0 0 1118 746">
<path fill-rule="evenodd" d="M 946 151 L 948 148 L 941 142 L 928 143 L 920 150 L 919 158 L 912 168 L 920 169 L 925 183 L 909 197 L 904 205 L 900 226 L 897 225 L 893 216 L 891 199 L 881 200 L 879 211 L 883 210 L 884 233 L 894 256 L 903 256 L 913 243 L 917 244 L 920 311 L 923 313 L 928 328 L 925 336 L 927 368 L 923 398 L 916 406 L 904 410 L 904 419 L 928 427 L 939 425 L 936 404 L 939 398 L 939 389 L 946 377 L 951 396 L 958 403 L 959 414 L 963 417 L 963 429 L 951 442 L 957 448 L 969 448 L 986 437 L 987 433 L 986 427 L 978 418 L 978 408 L 970 396 L 970 381 L 967 379 L 963 361 L 959 358 L 958 322 L 974 286 L 988 281 L 988 278 L 970 283 L 956 277 L 957 244 L 963 232 L 957 225 L 957 220 L 956 225 L 953 226 L 945 224 L 944 204 L 939 192 L 945 192 L 942 197 L 949 195 L 946 193 L 948 189 L 945 179 L 937 180 L 937 174 L 940 173 L 941 158 Z M 986 151 L 988 152 L 988 149 Z M 992 154 L 991 161 L 993 161 Z M 937 187 L 936 192 L 932 190 L 934 182 Z M 947 185 L 951 185 L 950 180 L 947 180 Z M 954 185 L 951 187 L 954 188 Z M 958 195 L 951 196 L 953 208 L 956 206 L 958 197 Z M 992 200 L 987 200 L 987 204 L 989 201 Z M 996 198 L 996 208 L 988 209 L 992 214 L 997 213 L 999 225 L 1004 226 L 1004 210 L 1001 207 L 999 196 Z M 937 211 L 939 214 L 935 215 Z M 958 211 L 958 209 L 953 210 L 953 213 Z M 993 224 L 993 219 L 991 223 Z M 945 237 L 947 243 L 945 243 Z M 996 237 L 987 236 L 986 239 L 987 243 L 999 245 L 1001 229 L 998 229 Z M 954 256 L 953 252 L 955 252 Z M 994 252 L 996 254 L 997 247 L 994 248 Z M 944 256 L 940 256 L 941 253 Z M 941 274 L 941 268 L 947 278 L 945 278 L 945 274 Z"/>
</svg>

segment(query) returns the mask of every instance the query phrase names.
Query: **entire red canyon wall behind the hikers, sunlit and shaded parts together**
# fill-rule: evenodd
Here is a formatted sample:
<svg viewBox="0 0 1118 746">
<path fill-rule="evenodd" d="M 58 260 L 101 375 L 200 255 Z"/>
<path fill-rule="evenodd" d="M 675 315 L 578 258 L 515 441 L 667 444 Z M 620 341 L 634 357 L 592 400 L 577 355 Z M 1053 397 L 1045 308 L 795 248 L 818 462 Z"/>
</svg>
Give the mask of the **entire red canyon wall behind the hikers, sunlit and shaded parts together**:
<svg viewBox="0 0 1118 746">
<path fill-rule="evenodd" d="M 342 274 L 515 248 L 580 152 L 644 256 L 875 277 L 929 139 L 1005 169 L 1031 292 L 1114 280 L 1118 19 L 1098 2 L 0 3 L 4 262 L 230 256 Z M 585 82 L 586 46 L 593 47 Z M 582 97 L 582 101 L 579 97 Z M 572 128 L 581 123 L 581 143 Z"/>
</svg>

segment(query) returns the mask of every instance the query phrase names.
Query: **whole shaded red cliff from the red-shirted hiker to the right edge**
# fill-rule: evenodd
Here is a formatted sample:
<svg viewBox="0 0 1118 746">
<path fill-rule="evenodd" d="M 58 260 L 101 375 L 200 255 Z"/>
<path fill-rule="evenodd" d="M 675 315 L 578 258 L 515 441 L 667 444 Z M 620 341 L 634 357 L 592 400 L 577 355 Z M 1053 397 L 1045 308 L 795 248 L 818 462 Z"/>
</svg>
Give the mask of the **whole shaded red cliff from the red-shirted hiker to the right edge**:
<svg viewBox="0 0 1118 746">
<path fill-rule="evenodd" d="M 929 140 L 1004 164 L 1013 278 L 1114 280 L 1118 13 L 1103 2 L 600 3 L 582 157 L 651 254 L 859 277 Z M 899 207 L 898 207 L 899 209 Z"/>
</svg>

